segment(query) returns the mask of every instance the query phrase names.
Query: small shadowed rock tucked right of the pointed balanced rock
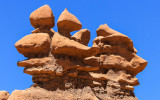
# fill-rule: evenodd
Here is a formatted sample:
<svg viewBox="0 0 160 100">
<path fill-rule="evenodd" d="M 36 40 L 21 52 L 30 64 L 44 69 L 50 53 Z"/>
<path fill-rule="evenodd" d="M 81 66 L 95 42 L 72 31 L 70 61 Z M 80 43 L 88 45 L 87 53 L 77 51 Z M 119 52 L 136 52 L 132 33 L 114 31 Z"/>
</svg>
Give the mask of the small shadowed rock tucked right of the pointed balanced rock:
<svg viewBox="0 0 160 100">
<path fill-rule="evenodd" d="M 71 37 L 71 39 L 73 39 L 81 44 L 87 45 L 90 40 L 90 31 L 88 29 L 82 29 L 82 30 L 76 32 Z"/>
</svg>

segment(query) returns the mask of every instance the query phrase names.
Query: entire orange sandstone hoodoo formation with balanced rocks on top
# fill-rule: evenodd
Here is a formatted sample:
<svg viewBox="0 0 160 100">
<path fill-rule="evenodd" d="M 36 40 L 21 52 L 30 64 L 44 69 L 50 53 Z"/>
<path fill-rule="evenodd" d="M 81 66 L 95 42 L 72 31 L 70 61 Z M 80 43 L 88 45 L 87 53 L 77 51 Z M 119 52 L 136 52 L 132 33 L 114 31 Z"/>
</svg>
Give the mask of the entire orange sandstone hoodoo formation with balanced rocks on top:
<svg viewBox="0 0 160 100">
<path fill-rule="evenodd" d="M 88 47 L 90 31 L 81 29 L 80 21 L 67 9 L 58 19 L 58 32 L 51 29 L 54 15 L 48 5 L 34 11 L 30 21 L 36 29 L 15 47 L 28 57 L 18 66 L 32 75 L 34 84 L 15 90 L 9 98 L 6 94 L 8 100 L 137 100 L 135 76 L 147 61 L 136 55 L 129 37 L 104 24 Z"/>
</svg>

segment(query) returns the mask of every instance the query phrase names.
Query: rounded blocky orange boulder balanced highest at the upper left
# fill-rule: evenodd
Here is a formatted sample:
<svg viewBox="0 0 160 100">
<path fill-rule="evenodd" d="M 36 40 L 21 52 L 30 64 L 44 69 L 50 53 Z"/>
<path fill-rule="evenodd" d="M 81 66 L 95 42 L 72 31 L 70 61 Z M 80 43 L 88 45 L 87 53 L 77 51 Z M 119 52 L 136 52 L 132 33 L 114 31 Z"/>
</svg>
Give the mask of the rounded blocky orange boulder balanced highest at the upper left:
<svg viewBox="0 0 160 100">
<path fill-rule="evenodd" d="M 54 15 L 51 8 L 48 5 L 44 5 L 30 15 L 30 22 L 34 28 L 42 28 L 48 26 L 54 27 Z"/>
</svg>

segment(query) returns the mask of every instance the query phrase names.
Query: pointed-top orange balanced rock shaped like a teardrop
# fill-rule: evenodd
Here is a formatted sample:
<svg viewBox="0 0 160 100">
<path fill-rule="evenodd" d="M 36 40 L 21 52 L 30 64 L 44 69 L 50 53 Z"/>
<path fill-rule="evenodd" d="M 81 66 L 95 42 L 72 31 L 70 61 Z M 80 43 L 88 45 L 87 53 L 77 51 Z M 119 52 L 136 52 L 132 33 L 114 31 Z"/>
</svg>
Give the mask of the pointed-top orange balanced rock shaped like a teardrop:
<svg viewBox="0 0 160 100">
<path fill-rule="evenodd" d="M 70 32 L 77 31 L 82 28 L 81 22 L 65 9 L 57 22 L 58 32 L 66 37 L 70 37 Z"/>
</svg>

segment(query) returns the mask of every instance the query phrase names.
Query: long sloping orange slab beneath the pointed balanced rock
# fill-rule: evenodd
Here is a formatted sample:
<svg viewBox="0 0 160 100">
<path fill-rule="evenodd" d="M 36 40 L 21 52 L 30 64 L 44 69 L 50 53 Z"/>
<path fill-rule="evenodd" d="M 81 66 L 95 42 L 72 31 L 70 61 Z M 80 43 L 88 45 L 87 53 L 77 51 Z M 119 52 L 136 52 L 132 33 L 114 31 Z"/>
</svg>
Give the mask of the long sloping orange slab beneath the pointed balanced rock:
<svg viewBox="0 0 160 100">
<path fill-rule="evenodd" d="M 74 40 L 70 40 L 59 33 L 56 33 L 52 38 L 52 53 L 65 54 L 68 56 L 85 58 L 97 54 L 99 48 L 87 47 Z"/>
</svg>

